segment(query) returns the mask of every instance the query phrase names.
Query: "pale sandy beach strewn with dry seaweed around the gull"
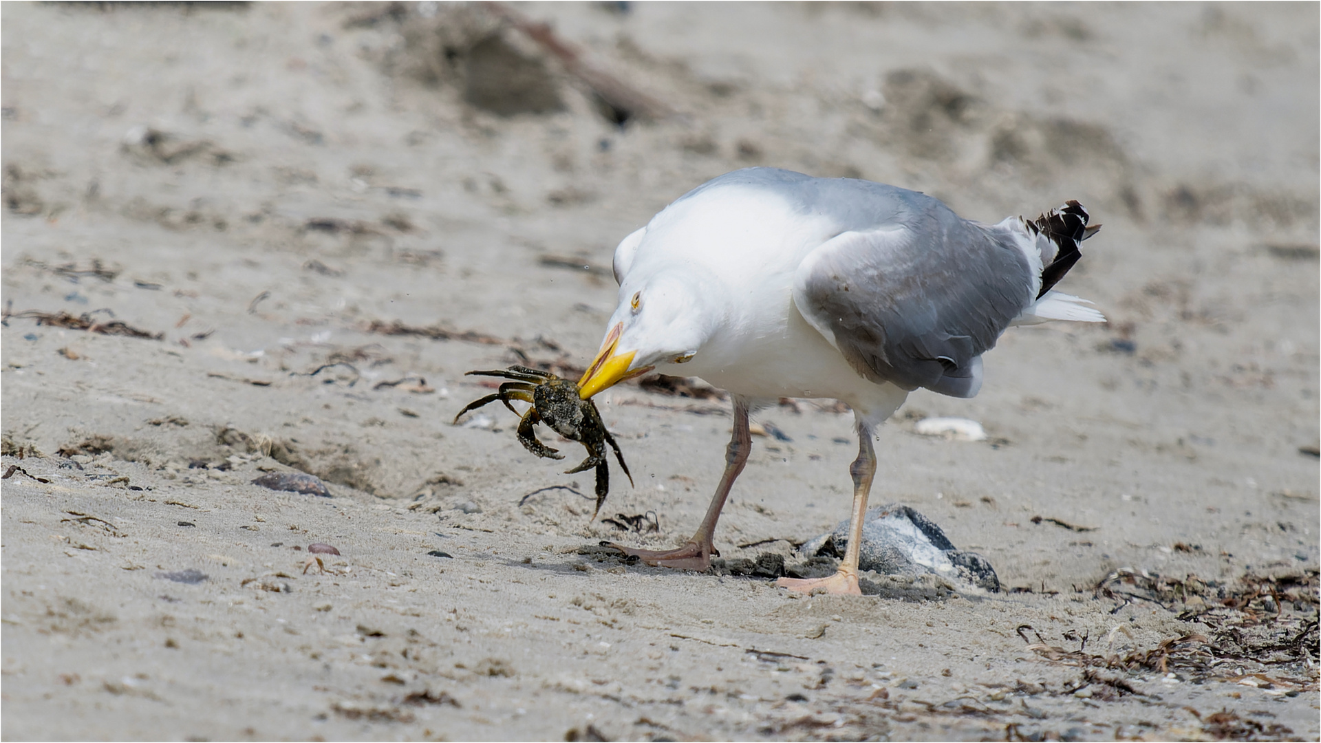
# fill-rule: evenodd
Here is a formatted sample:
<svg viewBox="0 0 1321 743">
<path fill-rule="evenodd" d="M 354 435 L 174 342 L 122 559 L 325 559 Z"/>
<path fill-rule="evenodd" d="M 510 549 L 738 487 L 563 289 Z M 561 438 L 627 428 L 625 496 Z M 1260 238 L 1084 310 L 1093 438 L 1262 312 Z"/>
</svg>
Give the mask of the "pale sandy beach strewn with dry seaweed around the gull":
<svg viewBox="0 0 1321 743">
<path fill-rule="evenodd" d="M 1316 4 L 517 12 L 651 116 L 481 5 L 0 8 L 5 739 L 1321 734 Z M 647 534 L 450 426 L 466 370 L 584 366 L 614 245 L 746 165 L 1104 223 L 1061 288 L 1108 325 L 881 431 L 872 502 L 1004 592 L 738 575 L 847 516 L 826 401 L 760 414 L 707 575 L 590 546 L 687 538 L 727 401 L 598 398 Z M 251 484 L 296 471 L 334 497 Z"/>
</svg>

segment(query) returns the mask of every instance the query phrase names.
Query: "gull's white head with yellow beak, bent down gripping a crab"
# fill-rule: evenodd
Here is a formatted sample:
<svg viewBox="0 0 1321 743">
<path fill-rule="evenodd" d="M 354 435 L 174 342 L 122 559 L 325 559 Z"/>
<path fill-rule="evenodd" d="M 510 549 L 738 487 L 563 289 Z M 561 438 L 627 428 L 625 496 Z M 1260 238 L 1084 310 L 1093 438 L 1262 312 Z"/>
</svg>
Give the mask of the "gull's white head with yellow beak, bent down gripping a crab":
<svg viewBox="0 0 1321 743">
<path fill-rule="evenodd" d="M 579 395 L 588 399 L 624 379 L 662 364 L 684 364 L 701 353 L 711 337 L 713 287 L 695 276 L 653 274 L 620 286 L 620 307 L 610 316 L 601 350 L 579 379 Z M 633 280 L 629 280 L 633 279 Z"/>
</svg>

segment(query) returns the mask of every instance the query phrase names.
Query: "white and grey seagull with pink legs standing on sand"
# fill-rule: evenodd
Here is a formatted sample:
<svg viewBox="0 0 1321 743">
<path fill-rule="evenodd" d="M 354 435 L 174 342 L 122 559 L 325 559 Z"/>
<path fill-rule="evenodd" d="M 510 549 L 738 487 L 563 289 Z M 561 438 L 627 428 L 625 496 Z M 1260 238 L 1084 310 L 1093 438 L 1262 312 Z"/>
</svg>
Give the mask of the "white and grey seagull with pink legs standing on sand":
<svg viewBox="0 0 1321 743">
<path fill-rule="evenodd" d="M 752 450 L 748 415 L 779 398 L 853 410 L 848 549 L 828 578 L 795 591 L 860 594 L 857 558 L 876 475 L 873 436 L 918 387 L 971 398 L 982 354 L 1012 325 L 1104 323 L 1053 291 L 1081 258 L 1077 201 L 1037 219 L 984 225 L 921 192 L 855 178 L 745 168 L 664 208 L 614 250 L 620 304 L 579 381 L 590 399 L 651 370 L 731 393 L 725 471 L 697 531 L 672 550 L 610 545 L 647 565 L 705 571 L 720 510 Z"/>
</svg>

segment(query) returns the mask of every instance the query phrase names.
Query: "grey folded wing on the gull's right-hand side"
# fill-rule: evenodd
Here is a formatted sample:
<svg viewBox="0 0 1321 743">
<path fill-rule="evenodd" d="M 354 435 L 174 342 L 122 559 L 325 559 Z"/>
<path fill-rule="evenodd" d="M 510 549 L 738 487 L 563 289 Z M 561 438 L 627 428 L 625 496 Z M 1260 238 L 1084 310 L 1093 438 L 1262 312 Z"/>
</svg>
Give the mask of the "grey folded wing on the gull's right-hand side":
<svg viewBox="0 0 1321 743">
<path fill-rule="evenodd" d="M 982 353 L 1034 299 L 1028 258 L 934 198 L 913 194 L 908 206 L 810 253 L 794 304 L 863 377 L 972 397 Z"/>
</svg>

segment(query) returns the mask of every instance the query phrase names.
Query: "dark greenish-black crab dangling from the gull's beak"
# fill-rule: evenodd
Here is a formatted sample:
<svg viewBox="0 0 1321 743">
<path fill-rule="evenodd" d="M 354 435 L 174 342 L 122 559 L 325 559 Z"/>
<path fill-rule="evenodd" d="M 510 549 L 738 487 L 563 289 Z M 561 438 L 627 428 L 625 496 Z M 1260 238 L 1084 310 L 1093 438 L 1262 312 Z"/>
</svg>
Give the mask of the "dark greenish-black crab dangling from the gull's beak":
<svg viewBox="0 0 1321 743">
<path fill-rule="evenodd" d="M 491 372 L 468 372 L 466 375 L 472 374 L 501 377 L 513 381 L 501 385 L 499 391 L 465 405 L 458 411 L 458 415 L 454 416 L 454 423 L 458 423 L 458 419 L 469 410 L 501 401 L 514 415 L 522 418 L 518 423 L 518 440 L 527 451 L 536 456 L 564 459 L 564 455 L 559 450 L 551 448 L 536 439 L 532 427 L 538 423 L 544 423 L 565 439 L 583 444 L 587 448 L 587 459 L 564 473 L 573 475 L 575 472 L 596 468 L 596 510 L 592 512 L 593 520 L 610 492 L 610 468 L 606 465 L 605 444 L 610 444 L 610 448 L 614 450 L 614 459 L 618 460 L 624 473 L 629 477 L 629 484 L 633 485 L 633 475 L 629 472 L 629 465 L 624 463 L 624 452 L 620 451 L 620 444 L 614 442 L 614 436 L 610 435 L 605 428 L 605 423 L 601 422 L 601 412 L 596 409 L 596 403 L 583 399 L 579 395 L 577 385 L 550 372 L 528 369 L 527 366 L 510 366 L 509 369 Z M 527 409 L 527 412 L 519 414 L 510 401 L 527 402 L 531 403 L 531 407 Z"/>
</svg>

